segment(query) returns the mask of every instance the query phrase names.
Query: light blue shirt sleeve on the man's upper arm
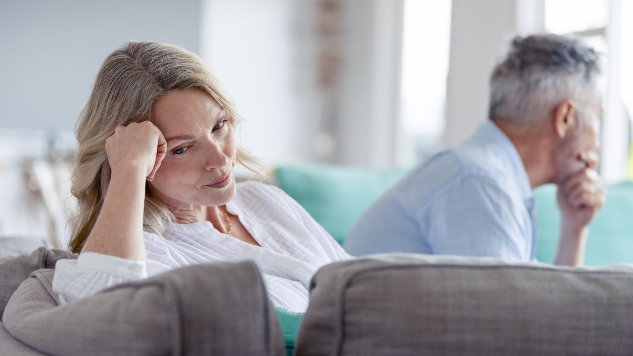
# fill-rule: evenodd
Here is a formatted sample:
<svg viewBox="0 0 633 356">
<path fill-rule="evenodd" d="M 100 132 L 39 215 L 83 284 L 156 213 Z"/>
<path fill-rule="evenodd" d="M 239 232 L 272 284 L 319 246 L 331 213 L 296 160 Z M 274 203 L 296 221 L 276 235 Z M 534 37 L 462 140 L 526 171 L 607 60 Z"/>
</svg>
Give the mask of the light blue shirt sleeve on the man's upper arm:
<svg viewBox="0 0 633 356">
<path fill-rule="evenodd" d="M 523 210 L 522 201 L 489 179 L 465 177 L 430 207 L 432 253 L 529 261 L 532 236 Z"/>
</svg>

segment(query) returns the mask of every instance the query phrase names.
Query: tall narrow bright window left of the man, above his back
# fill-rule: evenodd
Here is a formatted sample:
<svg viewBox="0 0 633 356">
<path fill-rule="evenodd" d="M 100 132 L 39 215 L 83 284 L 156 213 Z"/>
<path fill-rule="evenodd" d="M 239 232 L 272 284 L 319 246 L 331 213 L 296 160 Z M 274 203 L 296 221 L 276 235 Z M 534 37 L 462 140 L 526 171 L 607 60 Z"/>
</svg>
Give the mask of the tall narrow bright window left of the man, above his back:
<svg viewBox="0 0 633 356">
<path fill-rule="evenodd" d="M 404 1 L 397 163 L 410 166 L 441 141 L 449 65 L 451 1 Z"/>
</svg>

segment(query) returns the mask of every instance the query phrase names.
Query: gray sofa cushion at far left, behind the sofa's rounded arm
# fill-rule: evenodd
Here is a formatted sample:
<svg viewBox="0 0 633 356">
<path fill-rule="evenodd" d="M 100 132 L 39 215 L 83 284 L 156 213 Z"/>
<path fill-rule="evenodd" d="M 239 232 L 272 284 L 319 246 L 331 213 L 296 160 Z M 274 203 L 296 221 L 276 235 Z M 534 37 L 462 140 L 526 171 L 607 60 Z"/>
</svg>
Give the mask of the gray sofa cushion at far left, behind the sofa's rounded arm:
<svg viewBox="0 0 633 356">
<path fill-rule="evenodd" d="M 55 262 L 60 258 L 75 258 L 75 255 L 68 251 L 41 247 L 30 255 L 0 260 L 0 318 L 9 298 L 24 280 L 35 270 L 54 268 Z"/>
</svg>

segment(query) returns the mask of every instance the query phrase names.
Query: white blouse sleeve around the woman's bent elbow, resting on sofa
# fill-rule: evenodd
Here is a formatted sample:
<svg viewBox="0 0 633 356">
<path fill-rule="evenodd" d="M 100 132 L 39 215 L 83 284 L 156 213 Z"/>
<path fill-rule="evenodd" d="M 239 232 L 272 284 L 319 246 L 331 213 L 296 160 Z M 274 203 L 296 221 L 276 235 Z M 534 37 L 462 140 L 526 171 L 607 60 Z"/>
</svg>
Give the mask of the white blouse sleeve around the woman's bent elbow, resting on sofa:
<svg viewBox="0 0 633 356">
<path fill-rule="evenodd" d="M 62 305 L 92 296 L 119 283 L 147 278 L 143 261 L 85 252 L 77 260 L 58 260 L 53 277 L 53 291 Z"/>
</svg>

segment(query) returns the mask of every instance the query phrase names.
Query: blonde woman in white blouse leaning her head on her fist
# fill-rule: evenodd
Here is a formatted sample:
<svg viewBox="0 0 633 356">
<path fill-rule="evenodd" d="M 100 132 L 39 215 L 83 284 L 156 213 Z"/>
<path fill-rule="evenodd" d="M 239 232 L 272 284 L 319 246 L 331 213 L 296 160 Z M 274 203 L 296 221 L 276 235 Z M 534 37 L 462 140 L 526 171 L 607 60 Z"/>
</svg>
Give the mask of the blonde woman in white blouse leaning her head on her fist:
<svg viewBox="0 0 633 356">
<path fill-rule="evenodd" d="M 311 276 L 351 258 L 279 188 L 235 183 L 257 162 L 202 61 L 129 42 L 103 63 L 76 127 L 78 215 L 53 289 L 62 303 L 191 264 L 254 260 L 275 307 L 304 312 Z"/>
</svg>

